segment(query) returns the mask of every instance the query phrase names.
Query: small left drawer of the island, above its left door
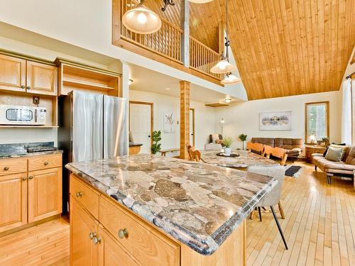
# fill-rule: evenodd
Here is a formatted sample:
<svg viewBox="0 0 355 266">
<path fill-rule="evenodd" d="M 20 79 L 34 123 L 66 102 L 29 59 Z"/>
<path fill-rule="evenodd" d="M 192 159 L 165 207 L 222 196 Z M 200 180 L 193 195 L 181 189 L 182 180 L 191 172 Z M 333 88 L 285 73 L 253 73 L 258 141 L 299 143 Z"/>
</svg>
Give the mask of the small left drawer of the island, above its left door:
<svg viewBox="0 0 355 266">
<path fill-rule="evenodd" d="M 95 218 L 99 217 L 99 193 L 70 174 L 70 195 Z"/>
</svg>

